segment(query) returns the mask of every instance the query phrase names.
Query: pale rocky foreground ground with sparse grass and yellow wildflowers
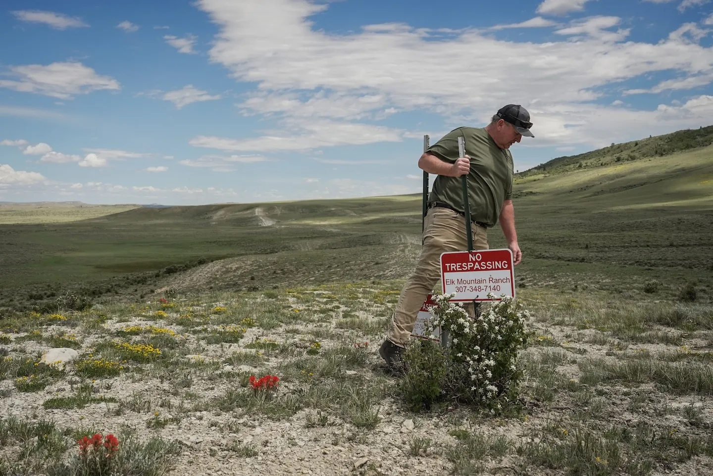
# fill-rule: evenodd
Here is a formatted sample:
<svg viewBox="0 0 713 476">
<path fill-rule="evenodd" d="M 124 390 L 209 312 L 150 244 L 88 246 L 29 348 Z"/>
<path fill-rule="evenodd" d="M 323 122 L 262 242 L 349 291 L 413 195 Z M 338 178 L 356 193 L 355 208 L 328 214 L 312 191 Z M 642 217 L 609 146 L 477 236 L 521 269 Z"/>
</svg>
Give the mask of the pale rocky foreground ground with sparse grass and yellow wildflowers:
<svg viewBox="0 0 713 476">
<path fill-rule="evenodd" d="M 712 306 L 524 290 L 520 408 L 414 413 L 376 352 L 398 292 L 167 289 L 9 316 L 0 475 L 72 474 L 93 433 L 127 453 L 135 435 L 141 475 L 713 475 Z M 51 348 L 77 358 L 39 365 Z"/>
</svg>

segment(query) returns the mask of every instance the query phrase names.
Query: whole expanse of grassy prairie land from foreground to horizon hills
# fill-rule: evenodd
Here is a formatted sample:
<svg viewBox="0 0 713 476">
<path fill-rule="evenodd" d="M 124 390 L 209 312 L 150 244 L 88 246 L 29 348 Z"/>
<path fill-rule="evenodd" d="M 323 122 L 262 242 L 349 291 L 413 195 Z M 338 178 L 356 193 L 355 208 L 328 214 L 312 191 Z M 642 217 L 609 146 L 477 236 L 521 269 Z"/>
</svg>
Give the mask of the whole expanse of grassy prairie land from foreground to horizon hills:
<svg viewBox="0 0 713 476">
<path fill-rule="evenodd" d="M 498 415 L 411 408 L 380 366 L 420 195 L 0 225 L 0 475 L 72 474 L 95 432 L 137 475 L 713 474 L 713 146 L 667 144 L 518 175 L 532 317 Z"/>
</svg>

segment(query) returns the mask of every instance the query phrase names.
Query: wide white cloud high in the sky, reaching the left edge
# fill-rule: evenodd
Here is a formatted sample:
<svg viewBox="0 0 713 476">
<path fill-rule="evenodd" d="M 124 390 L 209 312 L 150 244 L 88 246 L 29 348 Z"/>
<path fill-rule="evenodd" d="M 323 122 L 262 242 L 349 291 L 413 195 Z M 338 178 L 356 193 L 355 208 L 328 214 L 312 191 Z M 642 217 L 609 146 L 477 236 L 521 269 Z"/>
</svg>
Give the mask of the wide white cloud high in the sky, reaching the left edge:
<svg viewBox="0 0 713 476">
<path fill-rule="evenodd" d="M 9 76 L 16 79 L 1 79 L 0 88 L 60 99 L 71 99 L 73 95 L 97 90 L 120 89 L 115 79 L 99 76 L 92 68 L 77 62 L 11 66 Z"/>
</svg>

